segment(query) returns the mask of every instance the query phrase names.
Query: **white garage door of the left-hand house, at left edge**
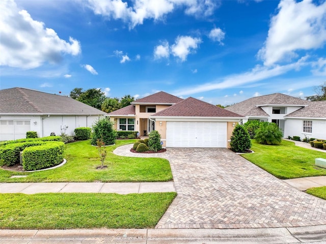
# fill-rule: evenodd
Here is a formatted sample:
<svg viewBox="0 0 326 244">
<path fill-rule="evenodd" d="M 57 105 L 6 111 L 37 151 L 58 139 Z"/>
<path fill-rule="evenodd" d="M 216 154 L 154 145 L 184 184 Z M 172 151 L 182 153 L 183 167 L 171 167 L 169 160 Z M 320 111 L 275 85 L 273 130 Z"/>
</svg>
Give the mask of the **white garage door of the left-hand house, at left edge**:
<svg viewBox="0 0 326 244">
<path fill-rule="evenodd" d="M 30 120 L 0 120 L 0 141 L 26 138 L 30 130 Z"/>
</svg>

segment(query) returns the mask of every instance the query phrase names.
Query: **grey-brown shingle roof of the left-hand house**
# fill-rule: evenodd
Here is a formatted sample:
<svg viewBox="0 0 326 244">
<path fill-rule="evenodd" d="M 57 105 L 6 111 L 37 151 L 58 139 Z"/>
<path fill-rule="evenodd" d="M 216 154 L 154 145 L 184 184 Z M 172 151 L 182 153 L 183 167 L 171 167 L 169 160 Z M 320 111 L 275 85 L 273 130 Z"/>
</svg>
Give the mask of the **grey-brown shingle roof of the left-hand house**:
<svg viewBox="0 0 326 244">
<path fill-rule="evenodd" d="M 19 87 L 0 90 L 0 113 L 107 114 L 72 98 Z"/>
</svg>

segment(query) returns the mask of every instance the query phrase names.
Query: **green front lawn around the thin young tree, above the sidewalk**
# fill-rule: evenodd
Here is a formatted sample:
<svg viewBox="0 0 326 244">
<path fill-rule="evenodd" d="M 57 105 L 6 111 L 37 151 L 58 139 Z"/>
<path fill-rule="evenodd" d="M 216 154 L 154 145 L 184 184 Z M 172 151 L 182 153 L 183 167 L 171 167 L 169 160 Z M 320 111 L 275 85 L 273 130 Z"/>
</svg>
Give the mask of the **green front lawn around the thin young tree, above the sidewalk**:
<svg viewBox="0 0 326 244">
<path fill-rule="evenodd" d="M 118 146 L 136 140 L 117 140 L 116 145 L 107 146 L 106 169 L 100 166 L 97 148 L 90 141 L 66 144 L 67 163 L 57 169 L 39 172 L 12 172 L 0 169 L 0 182 L 141 182 L 172 180 L 170 163 L 159 158 L 121 157 L 113 154 Z M 130 148 L 132 144 L 130 144 Z M 12 175 L 28 175 L 24 178 L 10 178 Z"/>
</svg>

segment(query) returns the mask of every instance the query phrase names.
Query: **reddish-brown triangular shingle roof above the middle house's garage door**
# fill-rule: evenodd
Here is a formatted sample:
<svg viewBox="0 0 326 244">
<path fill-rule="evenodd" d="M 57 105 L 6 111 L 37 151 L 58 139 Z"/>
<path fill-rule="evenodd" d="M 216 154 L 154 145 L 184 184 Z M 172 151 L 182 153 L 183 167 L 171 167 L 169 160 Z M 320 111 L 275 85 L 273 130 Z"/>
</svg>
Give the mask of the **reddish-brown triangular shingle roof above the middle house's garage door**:
<svg viewBox="0 0 326 244">
<path fill-rule="evenodd" d="M 189 97 L 152 116 L 182 116 L 182 117 L 242 117 L 239 114 Z"/>
</svg>

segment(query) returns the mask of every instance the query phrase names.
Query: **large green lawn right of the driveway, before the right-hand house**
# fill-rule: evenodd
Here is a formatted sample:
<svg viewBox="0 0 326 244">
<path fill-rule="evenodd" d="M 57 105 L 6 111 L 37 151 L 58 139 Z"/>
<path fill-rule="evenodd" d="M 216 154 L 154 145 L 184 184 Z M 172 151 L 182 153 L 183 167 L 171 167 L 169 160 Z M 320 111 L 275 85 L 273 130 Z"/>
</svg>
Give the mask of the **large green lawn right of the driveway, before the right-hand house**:
<svg viewBox="0 0 326 244">
<path fill-rule="evenodd" d="M 326 153 L 295 146 L 282 140 L 281 145 L 262 145 L 252 140 L 254 154 L 241 156 L 280 179 L 326 175 L 326 169 L 315 166 L 316 158 Z"/>
</svg>

